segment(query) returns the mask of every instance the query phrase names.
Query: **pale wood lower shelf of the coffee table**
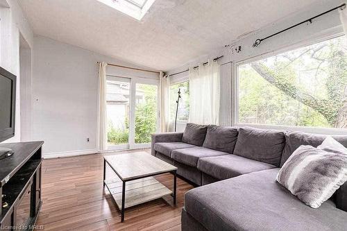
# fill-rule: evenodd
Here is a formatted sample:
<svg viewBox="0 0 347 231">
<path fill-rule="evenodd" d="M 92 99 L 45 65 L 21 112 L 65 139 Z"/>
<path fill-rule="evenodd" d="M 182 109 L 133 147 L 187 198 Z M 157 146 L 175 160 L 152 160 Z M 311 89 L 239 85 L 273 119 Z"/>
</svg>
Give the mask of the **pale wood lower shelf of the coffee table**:
<svg viewBox="0 0 347 231">
<path fill-rule="evenodd" d="M 123 182 L 120 179 L 104 180 L 106 187 L 121 209 L 121 191 Z M 126 182 L 125 208 L 149 202 L 163 196 L 172 195 L 172 191 L 153 177 Z"/>
</svg>

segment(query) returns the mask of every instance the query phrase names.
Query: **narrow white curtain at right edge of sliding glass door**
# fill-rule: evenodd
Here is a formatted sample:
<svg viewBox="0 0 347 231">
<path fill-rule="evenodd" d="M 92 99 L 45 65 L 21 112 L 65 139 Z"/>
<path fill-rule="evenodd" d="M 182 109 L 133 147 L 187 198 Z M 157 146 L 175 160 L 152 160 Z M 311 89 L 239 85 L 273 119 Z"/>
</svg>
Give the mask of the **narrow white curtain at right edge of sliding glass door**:
<svg viewBox="0 0 347 231">
<path fill-rule="evenodd" d="M 167 132 L 169 130 L 169 95 L 170 95 L 170 78 L 164 76 L 160 71 L 159 75 L 159 118 L 160 118 L 160 132 Z"/>
</svg>

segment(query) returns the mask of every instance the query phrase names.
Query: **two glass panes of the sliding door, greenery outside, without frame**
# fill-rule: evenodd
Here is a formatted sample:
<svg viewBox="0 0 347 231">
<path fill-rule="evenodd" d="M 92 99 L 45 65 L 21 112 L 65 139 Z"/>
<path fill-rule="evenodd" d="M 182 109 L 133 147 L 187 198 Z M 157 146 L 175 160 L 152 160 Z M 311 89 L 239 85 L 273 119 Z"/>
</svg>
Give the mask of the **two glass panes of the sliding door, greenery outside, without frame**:
<svg viewBox="0 0 347 231">
<path fill-rule="evenodd" d="M 151 134 L 157 129 L 156 85 L 137 84 L 135 103 L 135 143 L 151 142 Z M 108 81 L 108 144 L 129 142 L 130 83 Z"/>
</svg>

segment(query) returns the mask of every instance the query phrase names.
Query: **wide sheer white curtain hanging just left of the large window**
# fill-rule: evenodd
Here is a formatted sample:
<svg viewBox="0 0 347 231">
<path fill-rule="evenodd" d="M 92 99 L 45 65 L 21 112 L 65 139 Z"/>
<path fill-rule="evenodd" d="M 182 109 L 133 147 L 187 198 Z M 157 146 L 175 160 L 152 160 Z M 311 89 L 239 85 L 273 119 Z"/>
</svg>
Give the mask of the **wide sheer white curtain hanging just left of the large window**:
<svg viewBox="0 0 347 231">
<path fill-rule="evenodd" d="M 217 62 L 189 69 L 189 121 L 219 125 L 221 68 Z"/>
</svg>

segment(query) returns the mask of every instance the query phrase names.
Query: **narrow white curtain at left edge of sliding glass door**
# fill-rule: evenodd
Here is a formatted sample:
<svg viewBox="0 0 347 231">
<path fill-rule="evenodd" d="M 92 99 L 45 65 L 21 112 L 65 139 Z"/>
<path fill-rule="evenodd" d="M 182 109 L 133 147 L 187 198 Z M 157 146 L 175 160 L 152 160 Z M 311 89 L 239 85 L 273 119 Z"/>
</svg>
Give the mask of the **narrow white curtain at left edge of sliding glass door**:
<svg viewBox="0 0 347 231">
<path fill-rule="evenodd" d="M 106 110 L 106 62 L 99 63 L 99 116 L 98 116 L 98 151 L 108 148 L 107 110 Z"/>
</svg>

